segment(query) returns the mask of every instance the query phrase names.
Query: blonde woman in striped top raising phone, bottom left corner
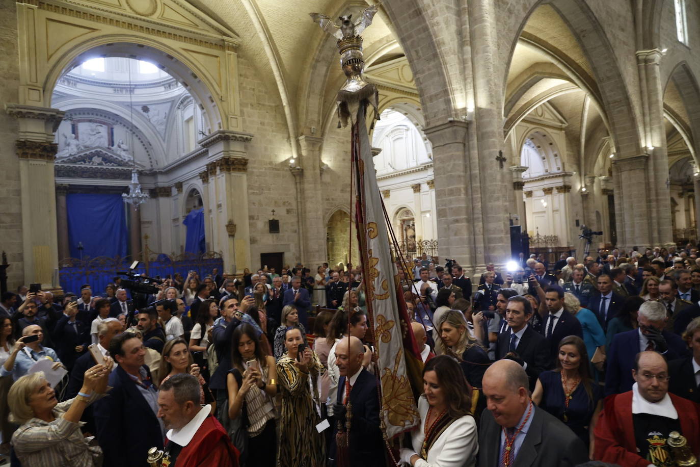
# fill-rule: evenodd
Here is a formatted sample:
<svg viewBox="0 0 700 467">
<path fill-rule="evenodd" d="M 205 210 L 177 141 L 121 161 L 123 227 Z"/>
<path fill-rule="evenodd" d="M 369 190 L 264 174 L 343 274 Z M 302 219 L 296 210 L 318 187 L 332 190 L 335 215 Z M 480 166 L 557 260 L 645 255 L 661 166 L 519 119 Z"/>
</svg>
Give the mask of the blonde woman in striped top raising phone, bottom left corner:
<svg viewBox="0 0 700 467">
<path fill-rule="evenodd" d="M 15 453 L 24 466 L 92 467 L 102 451 L 90 446 L 80 431 L 85 407 L 105 396 L 112 360 L 85 371 L 78 396 L 59 403 L 41 371 L 18 379 L 8 393 L 10 421 L 20 424 L 12 436 Z"/>
</svg>

